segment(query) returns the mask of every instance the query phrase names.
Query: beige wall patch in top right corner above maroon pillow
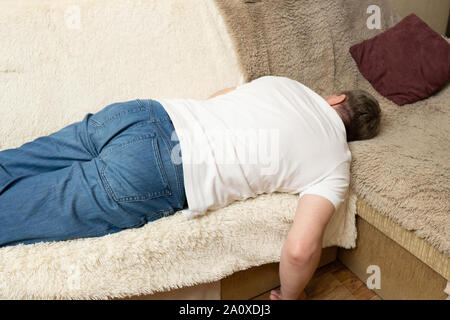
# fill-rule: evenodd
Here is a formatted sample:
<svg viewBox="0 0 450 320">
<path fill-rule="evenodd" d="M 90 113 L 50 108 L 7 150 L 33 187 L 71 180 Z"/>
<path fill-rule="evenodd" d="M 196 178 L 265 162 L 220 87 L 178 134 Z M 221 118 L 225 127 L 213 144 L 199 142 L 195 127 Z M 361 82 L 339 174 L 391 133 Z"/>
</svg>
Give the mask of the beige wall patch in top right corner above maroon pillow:
<svg viewBox="0 0 450 320">
<path fill-rule="evenodd" d="M 415 13 L 430 27 L 445 34 L 450 12 L 450 0 L 390 0 L 395 10 L 406 17 Z"/>
</svg>

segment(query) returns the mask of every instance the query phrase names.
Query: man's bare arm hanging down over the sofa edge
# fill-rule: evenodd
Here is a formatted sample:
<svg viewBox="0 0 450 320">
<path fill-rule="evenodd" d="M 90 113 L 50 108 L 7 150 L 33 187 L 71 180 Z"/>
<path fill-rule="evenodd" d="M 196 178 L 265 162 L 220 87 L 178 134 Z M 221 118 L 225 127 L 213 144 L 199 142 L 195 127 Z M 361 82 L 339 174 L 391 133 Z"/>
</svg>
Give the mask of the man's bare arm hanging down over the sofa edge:
<svg viewBox="0 0 450 320">
<path fill-rule="evenodd" d="M 281 251 L 281 290 L 272 291 L 271 298 L 295 300 L 304 295 L 319 264 L 323 234 L 334 211 L 334 205 L 324 197 L 307 194 L 300 198 Z"/>
</svg>

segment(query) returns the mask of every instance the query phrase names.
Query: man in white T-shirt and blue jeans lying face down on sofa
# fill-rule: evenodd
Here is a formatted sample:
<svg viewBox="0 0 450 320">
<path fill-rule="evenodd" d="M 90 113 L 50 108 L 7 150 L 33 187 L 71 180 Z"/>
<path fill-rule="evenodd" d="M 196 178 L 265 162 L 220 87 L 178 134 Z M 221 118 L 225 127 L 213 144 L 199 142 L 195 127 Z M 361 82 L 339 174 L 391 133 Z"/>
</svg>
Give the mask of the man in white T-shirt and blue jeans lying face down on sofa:
<svg viewBox="0 0 450 320">
<path fill-rule="evenodd" d="M 208 100 L 108 105 L 0 152 L 0 246 L 98 237 L 180 210 L 195 217 L 262 193 L 299 194 L 271 299 L 305 298 L 349 185 L 347 142 L 376 136 L 380 113 L 364 91 L 323 99 L 275 76 Z"/>
</svg>

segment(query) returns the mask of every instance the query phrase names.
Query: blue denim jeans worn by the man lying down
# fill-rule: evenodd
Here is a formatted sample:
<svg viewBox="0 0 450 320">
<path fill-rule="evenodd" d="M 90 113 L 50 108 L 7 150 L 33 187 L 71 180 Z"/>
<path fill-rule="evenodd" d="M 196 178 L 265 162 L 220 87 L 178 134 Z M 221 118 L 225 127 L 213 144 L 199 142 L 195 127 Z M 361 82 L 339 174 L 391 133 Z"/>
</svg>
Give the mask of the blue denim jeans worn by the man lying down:
<svg viewBox="0 0 450 320">
<path fill-rule="evenodd" d="M 163 106 L 133 100 L 0 151 L 0 246 L 98 237 L 185 208 L 177 144 Z"/>
</svg>

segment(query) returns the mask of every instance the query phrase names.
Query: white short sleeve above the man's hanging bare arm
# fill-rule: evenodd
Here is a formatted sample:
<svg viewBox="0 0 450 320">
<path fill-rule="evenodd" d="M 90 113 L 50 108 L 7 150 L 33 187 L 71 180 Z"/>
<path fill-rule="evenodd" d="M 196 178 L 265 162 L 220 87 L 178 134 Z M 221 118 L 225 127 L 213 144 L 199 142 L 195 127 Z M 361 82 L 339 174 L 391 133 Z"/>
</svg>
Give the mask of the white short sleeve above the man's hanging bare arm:
<svg viewBox="0 0 450 320">
<path fill-rule="evenodd" d="M 299 198 L 305 194 L 314 194 L 322 196 L 329 200 L 334 208 L 337 208 L 344 202 L 350 184 L 350 162 L 344 161 L 330 172 L 324 179 L 308 187 L 299 194 Z"/>
</svg>

